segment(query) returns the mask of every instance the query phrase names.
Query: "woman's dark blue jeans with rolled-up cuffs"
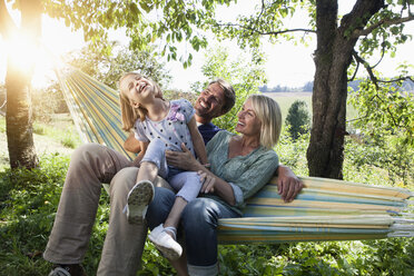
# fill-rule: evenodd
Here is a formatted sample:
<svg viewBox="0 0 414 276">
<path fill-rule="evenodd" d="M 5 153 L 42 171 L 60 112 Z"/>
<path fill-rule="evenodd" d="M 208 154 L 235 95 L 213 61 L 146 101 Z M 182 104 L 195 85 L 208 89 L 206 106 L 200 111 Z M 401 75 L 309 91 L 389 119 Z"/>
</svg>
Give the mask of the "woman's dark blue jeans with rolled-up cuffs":
<svg viewBox="0 0 414 276">
<path fill-rule="evenodd" d="M 166 188 L 156 188 L 148 206 L 150 229 L 162 224 L 172 208 L 176 196 Z M 181 214 L 180 229 L 185 234 L 187 262 L 190 266 L 207 267 L 217 264 L 217 225 L 219 218 L 240 217 L 225 205 L 210 198 L 196 198 Z"/>
</svg>

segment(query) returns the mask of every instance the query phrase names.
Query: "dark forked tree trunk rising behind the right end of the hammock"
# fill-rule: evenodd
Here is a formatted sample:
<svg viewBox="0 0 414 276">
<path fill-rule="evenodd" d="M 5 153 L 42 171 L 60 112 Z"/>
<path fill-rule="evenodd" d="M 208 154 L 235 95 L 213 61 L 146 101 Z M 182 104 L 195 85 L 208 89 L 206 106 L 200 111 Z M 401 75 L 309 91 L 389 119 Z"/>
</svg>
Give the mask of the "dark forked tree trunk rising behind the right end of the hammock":
<svg viewBox="0 0 414 276">
<path fill-rule="evenodd" d="M 316 71 L 307 149 L 310 176 L 343 178 L 347 69 L 357 41 L 349 33 L 363 29 L 383 4 L 383 0 L 358 0 L 337 27 L 337 1 L 316 1 Z"/>
</svg>

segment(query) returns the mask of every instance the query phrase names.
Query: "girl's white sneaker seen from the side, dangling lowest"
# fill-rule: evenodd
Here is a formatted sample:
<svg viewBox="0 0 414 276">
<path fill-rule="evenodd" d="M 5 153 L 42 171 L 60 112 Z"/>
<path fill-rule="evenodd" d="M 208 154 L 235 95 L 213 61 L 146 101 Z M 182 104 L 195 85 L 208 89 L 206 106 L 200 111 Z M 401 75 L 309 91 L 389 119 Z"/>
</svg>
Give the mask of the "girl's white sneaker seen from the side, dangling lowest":
<svg viewBox="0 0 414 276">
<path fill-rule="evenodd" d="M 148 235 L 149 240 L 157 247 L 161 254 L 171 260 L 178 259 L 183 254 L 181 246 L 168 235 L 162 225 L 157 226 Z"/>
</svg>

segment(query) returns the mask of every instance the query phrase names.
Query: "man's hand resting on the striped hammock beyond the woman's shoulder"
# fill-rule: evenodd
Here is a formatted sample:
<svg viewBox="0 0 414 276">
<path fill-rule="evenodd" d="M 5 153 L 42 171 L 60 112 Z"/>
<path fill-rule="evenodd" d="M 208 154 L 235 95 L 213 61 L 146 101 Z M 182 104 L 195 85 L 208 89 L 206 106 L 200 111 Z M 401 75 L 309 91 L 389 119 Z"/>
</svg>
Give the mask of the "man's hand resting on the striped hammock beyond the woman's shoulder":
<svg viewBox="0 0 414 276">
<path fill-rule="evenodd" d="M 304 184 L 286 166 L 280 165 L 277 169 L 277 189 L 285 203 L 290 203 L 299 194 Z"/>
</svg>

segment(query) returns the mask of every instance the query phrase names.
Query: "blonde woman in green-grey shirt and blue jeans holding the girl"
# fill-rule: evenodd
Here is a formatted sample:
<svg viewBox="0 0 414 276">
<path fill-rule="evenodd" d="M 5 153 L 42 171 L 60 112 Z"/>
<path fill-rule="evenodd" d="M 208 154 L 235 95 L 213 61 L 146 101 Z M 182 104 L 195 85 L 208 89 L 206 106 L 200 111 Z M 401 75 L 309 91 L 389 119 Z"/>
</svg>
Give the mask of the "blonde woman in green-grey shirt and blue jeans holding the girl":
<svg viewBox="0 0 414 276">
<path fill-rule="evenodd" d="M 181 215 L 187 267 L 184 259 L 175 265 L 181 275 L 218 273 L 218 219 L 240 217 L 245 200 L 265 186 L 278 167 L 278 157 L 272 150 L 282 128 L 277 102 L 253 95 L 237 116 L 236 131 L 240 135 L 220 131 L 207 144 L 211 167 L 208 170 L 199 166 L 204 179 L 201 196 L 189 203 Z M 172 191 L 156 189 L 147 213 L 150 229 L 168 216 L 174 200 Z"/>
</svg>

